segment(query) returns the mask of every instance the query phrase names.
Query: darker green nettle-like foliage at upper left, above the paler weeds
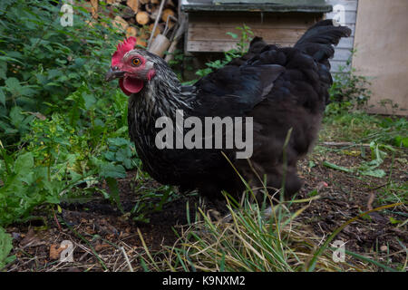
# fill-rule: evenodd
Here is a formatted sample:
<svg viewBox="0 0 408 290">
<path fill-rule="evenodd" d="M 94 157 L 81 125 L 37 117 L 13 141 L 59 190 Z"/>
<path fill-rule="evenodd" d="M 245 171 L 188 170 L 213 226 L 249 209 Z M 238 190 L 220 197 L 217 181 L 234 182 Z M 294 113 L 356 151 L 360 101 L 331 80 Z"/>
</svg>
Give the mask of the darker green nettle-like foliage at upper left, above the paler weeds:
<svg viewBox="0 0 408 290">
<path fill-rule="evenodd" d="M 114 90 L 101 75 L 111 57 L 106 47 L 114 47 L 119 35 L 109 26 L 91 27 L 81 6 L 74 7 L 73 26 L 63 27 L 57 4 L 0 4 L 0 139 L 5 145 L 29 131 L 33 112 L 49 114 L 49 103 L 58 106 L 84 82 L 92 83 L 92 94 Z"/>
</svg>

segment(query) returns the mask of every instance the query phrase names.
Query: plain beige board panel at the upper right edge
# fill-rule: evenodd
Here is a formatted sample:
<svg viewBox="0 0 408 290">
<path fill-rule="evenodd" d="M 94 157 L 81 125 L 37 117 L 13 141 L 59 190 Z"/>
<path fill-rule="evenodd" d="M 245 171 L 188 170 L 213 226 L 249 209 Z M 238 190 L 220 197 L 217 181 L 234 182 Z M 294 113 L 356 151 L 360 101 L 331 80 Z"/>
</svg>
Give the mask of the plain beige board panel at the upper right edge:
<svg viewBox="0 0 408 290">
<path fill-rule="evenodd" d="M 357 73 L 372 78 L 369 111 L 408 115 L 408 1 L 359 0 L 355 49 Z"/>
</svg>

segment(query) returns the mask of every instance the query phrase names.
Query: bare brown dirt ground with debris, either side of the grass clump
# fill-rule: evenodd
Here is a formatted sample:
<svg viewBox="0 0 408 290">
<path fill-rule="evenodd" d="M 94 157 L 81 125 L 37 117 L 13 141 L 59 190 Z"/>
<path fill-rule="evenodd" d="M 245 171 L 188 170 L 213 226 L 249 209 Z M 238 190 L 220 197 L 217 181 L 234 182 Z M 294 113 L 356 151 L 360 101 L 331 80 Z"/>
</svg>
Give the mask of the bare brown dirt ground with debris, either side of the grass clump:
<svg viewBox="0 0 408 290">
<path fill-rule="evenodd" d="M 306 227 L 312 227 L 315 234 L 322 237 L 322 241 L 350 218 L 387 204 L 381 198 L 382 189 L 390 181 L 390 173 L 391 180 L 395 182 L 408 181 L 408 166 L 403 159 L 395 160 L 393 164 L 389 158 L 385 160 L 381 166 L 387 173 L 384 179 L 357 178 L 344 171 L 328 169 L 323 161 L 350 168 L 360 164 L 362 159 L 327 150 L 324 154 L 309 155 L 300 164 L 299 173 L 305 184 L 298 197 L 310 198 L 310 193 L 316 189 L 320 198 L 311 201 L 297 219 Z M 126 212 L 136 202 L 131 186 L 133 175 L 134 172 L 129 172 L 127 179 L 119 180 L 121 203 Z M 157 186 L 151 184 L 152 189 Z M 146 257 L 143 242 L 152 252 L 160 251 L 163 246 L 172 246 L 177 239 L 179 226 L 188 222 L 187 201 L 192 211 L 197 207 L 199 198 L 178 198 L 166 204 L 161 211 L 149 214 L 149 223 L 137 222 L 130 215 L 122 215 L 118 208 L 104 198 L 94 198 L 83 204 L 63 205 L 61 213 L 38 213 L 42 219 L 7 228 L 7 232 L 14 237 L 12 254 L 17 258 L 6 270 L 129 271 L 132 267 L 135 271 L 143 271 L 141 257 Z M 406 205 L 376 211 L 345 227 L 336 239 L 345 241 L 349 251 L 370 256 L 392 268 L 403 266 L 407 256 L 404 247 L 408 243 L 408 234 L 406 224 L 401 225 L 400 221 L 407 217 Z M 73 242 L 72 263 L 59 261 L 63 240 Z"/>
</svg>

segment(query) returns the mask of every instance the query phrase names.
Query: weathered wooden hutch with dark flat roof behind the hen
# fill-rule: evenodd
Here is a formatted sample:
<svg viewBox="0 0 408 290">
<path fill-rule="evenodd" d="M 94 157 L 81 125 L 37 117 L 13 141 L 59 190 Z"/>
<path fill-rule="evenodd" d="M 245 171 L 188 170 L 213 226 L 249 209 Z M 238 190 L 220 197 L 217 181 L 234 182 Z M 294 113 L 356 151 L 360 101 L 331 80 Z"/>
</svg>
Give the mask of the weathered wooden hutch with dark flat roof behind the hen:
<svg viewBox="0 0 408 290">
<path fill-rule="evenodd" d="M 237 40 L 227 33 L 247 24 L 267 43 L 293 45 L 306 29 L 332 11 L 325 0 L 182 0 L 189 17 L 187 53 L 226 52 Z"/>
</svg>

